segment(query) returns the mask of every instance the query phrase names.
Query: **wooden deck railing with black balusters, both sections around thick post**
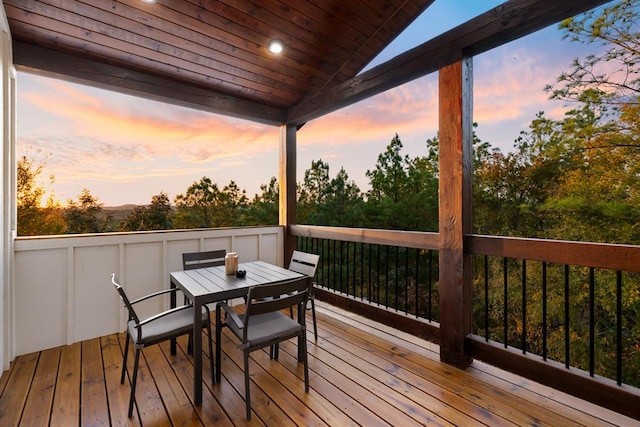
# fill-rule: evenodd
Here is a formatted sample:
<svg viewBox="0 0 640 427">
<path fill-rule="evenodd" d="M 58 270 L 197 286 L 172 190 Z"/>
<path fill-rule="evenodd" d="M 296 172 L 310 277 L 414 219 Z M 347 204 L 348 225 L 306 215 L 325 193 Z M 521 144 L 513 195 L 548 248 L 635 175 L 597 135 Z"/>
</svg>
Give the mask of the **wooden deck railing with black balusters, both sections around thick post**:
<svg viewBox="0 0 640 427">
<path fill-rule="evenodd" d="M 437 234 L 311 226 L 293 233 L 300 249 L 321 256 L 321 298 L 438 342 Z M 466 247 L 471 356 L 638 416 L 640 246 L 472 235 Z"/>
</svg>

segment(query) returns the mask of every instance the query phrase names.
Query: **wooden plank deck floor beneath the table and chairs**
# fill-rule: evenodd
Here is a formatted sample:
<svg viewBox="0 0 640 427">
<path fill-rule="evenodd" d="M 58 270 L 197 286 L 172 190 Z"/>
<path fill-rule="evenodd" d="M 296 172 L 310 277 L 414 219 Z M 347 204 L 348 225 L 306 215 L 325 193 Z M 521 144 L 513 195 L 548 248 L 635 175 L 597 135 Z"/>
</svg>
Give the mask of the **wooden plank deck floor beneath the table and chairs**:
<svg viewBox="0 0 640 427">
<path fill-rule="evenodd" d="M 318 342 L 308 335 L 310 392 L 294 342 L 281 346 L 279 361 L 254 352 L 250 423 L 242 354 L 226 331 L 221 383 L 210 383 L 203 357 L 200 407 L 192 403 L 192 358 L 181 340 L 176 356 L 168 344 L 143 350 L 136 410 L 127 418 L 119 334 L 18 357 L 0 377 L 0 426 L 640 425 L 480 362 L 452 368 L 439 362 L 432 343 L 317 305 Z"/>
</svg>

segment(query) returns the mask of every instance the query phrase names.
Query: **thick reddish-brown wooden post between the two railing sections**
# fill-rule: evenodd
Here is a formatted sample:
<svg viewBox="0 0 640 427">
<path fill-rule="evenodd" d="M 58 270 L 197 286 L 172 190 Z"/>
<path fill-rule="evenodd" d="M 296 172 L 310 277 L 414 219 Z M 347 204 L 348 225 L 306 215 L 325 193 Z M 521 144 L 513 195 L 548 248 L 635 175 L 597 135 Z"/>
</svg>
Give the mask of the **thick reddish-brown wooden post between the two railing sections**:
<svg viewBox="0 0 640 427">
<path fill-rule="evenodd" d="M 439 74 L 440 360 L 466 368 L 465 338 L 472 332 L 471 256 L 464 236 L 471 231 L 472 58 Z"/>
</svg>

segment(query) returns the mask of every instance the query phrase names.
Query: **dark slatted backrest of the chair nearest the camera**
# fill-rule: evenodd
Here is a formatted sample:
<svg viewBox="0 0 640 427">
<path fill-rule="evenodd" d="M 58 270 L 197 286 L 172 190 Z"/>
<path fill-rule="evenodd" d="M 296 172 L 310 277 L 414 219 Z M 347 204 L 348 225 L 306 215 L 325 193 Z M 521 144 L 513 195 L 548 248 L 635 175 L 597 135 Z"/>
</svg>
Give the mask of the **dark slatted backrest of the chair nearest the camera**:
<svg viewBox="0 0 640 427">
<path fill-rule="evenodd" d="M 249 288 L 245 322 L 251 325 L 251 316 L 280 311 L 284 308 L 299 306 L 304 308 L 311 277 L 299 277 L 269 285 L 257 285 Z M 304 310 L 302 310 L 304 312 Z M 304 324 L 304 315 L 301 316 Z M 246 329 L 246 328 L 245 328 Z"/>
</svg>

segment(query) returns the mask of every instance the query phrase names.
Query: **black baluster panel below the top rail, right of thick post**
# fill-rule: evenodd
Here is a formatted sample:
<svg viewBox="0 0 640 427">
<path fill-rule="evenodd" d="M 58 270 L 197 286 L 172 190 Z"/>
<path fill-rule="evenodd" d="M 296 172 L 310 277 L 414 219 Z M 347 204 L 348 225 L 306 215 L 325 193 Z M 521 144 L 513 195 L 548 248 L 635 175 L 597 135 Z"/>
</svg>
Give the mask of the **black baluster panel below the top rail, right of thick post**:
<svg viewBox="0 0 640 427">
<path fill-rule="evenodd" d="M 591 377 L 640 386 L 637 276 L 487 255 L 477 261 L 475 334 Z"/>
</svg>

